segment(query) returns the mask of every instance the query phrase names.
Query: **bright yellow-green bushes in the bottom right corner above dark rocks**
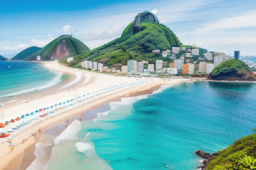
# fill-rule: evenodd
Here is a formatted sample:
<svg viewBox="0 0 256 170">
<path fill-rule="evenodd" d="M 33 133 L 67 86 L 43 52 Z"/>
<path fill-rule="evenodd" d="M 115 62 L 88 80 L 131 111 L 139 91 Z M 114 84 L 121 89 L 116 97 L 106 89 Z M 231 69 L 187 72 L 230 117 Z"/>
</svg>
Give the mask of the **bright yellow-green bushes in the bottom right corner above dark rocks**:
<svg viewBox="0 0 256 170">
<path fill-rule="evenodd" d="M 256 134 L 238 139 L 218 153 L 207 170 L 256 170 Z"/>
</svg>

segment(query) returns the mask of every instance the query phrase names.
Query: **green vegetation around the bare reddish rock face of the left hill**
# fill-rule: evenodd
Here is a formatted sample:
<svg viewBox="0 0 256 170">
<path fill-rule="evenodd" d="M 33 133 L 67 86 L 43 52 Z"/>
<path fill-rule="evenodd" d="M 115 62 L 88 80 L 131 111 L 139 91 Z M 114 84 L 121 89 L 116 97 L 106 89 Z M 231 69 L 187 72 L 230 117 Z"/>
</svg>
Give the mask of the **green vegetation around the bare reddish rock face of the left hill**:
<svg viewBox="0 0 256 170">
<path fill-rule="evenodd" d="M 71 36 L 64 35 L 48 43 L 44 48 L 25 58 L 25 60 L 36 60 L 38 55 L 40 55 L 41 60 L 49 60 L 59 44 L 66 44 L 66 47 L 69 50 L 69 54 L 66 58 L 90 51 L 88 46 L 83 42 Z"/>
</svg>

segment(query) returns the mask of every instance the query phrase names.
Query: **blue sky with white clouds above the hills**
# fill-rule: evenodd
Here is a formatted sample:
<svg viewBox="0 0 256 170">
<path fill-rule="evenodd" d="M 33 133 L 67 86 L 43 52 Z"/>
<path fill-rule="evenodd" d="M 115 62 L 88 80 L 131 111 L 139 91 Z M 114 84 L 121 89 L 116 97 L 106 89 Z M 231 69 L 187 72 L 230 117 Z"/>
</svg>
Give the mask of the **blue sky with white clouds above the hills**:
<svg viewBox="0 0 256 170">
<path fill-rule="evenodd" d="M 0 55 L 73 35 L 91 50 L 153 12 L 184 45 L 256 56 L 256 0 L 0 0 Z"/>
</svg>

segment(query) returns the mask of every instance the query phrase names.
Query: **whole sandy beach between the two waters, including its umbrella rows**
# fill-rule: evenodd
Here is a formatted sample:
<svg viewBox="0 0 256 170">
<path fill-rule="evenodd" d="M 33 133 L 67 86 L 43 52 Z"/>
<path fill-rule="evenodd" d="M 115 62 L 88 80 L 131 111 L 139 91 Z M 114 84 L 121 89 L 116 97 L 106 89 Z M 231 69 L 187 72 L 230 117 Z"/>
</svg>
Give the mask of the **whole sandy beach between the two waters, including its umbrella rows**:
<svg viewBox="0 0 256 170">
<path fill-rule="evenodd" d="M 26 116 L 24 119 L 1 128 L 1 132 L 3 132 L 19 127 L 15 131 L 12 130 L 10 136 L 0 138 L 0 170 L 6 167 L 10 169 L 12 164 L 9 164 L 9 162 L 12 160 L 15 160 L 16 164 L 24 162 L 24 151 L 28 147 L 33 147 L 44 131 L 67 118 L 78 116 L 111 101 L 118 101 L 122 97 L 150 94 L 159 89 L 161 85 L 192 82 L 190 79 L 182 78 L 166 80 L 155 77 L 112 76 L 68 68 L 57 62 L 44 62 L 44 66 L 50 70 L 68 75 L 70 78 L 50 89 L 15 100 L 6 100 L 4 107 L 0 108 L 0 123 L 5 123 L 5 121 L 27 113 L 33 112 L 33 115 Z M 46 116 L 39 117 L 46 113 Z M 41 130 L 40 133 L 39 129 Z M 37 134 L 36 138 L 32 136 L 32 133 Z M 29 157 L 26 158 L 29 159 Z M 30 159 L 28 162 L 32 162 L 34 157 Z M 29 166 L 29 163 L 26 166 Z M 26 169 L 26 167 L 20 169 Z"/>
</svg>

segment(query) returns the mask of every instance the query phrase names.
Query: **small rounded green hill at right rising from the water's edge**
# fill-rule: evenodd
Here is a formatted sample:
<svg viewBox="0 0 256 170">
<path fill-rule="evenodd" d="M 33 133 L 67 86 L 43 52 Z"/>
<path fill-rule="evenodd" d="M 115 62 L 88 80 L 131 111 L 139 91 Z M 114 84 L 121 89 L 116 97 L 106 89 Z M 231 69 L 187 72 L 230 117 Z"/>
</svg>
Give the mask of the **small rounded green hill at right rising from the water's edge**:
<svg viewBox="0 0 256 170">
<path fill-rule="evenodd" d="M 208 79 L 256 81 L 256 76 L 243 61 L 231 59 L 216 66 Z"/>
</svg>

